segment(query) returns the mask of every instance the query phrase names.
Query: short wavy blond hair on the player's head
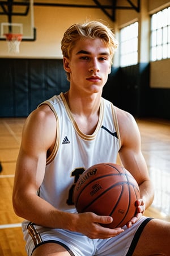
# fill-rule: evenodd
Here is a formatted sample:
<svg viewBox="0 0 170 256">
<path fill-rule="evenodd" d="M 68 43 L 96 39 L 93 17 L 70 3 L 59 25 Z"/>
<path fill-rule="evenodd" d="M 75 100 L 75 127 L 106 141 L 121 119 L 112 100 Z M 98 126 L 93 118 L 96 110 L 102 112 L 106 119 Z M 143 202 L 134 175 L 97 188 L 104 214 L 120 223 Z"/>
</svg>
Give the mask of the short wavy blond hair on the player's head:
<svg viewBox="0 0 170 256">
<path fill-rule="evenodd" d="M 70 59 L 71 51 L 75 43 L 80 38 L 101 39 L 109 47 L 111 54 L 111 64 L 115 49 L 117 48 L 117 40 L 114 38 L 114 33 L 109 26 L 98 22 L 90 21 L 84 23 L 76 23 L 70 26 L 63 35 L 61 40 L 61 50 L 63 57 Z M 67 80 L 70 81 L 70 73 L 67 72 Z"/>
</svg>

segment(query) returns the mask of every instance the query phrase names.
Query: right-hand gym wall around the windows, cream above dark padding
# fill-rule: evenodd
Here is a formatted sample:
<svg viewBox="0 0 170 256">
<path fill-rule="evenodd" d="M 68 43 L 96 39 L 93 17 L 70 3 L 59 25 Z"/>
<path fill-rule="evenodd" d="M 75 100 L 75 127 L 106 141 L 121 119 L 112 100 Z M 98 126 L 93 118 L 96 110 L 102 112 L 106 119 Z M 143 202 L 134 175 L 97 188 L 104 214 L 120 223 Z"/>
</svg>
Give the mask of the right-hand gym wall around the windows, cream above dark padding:
<svg viewBox="0 0 170 256">
<path fill-rule="evenodd" d="M 127 4 L 124 0 L 119 2 Z M 167 0 L 142 0 L 140 13 L 117 11 L 116 31 L 139 22 L 138 65 L 121 68 L 120 79 L 124 101 L 126 96 L 133 95 L 133 102 L 125 102 L 123 108 L 138 117 L 170 119 L 170 59 L 150 62 L 150 15 L 168 6 Z"/>
</svg>

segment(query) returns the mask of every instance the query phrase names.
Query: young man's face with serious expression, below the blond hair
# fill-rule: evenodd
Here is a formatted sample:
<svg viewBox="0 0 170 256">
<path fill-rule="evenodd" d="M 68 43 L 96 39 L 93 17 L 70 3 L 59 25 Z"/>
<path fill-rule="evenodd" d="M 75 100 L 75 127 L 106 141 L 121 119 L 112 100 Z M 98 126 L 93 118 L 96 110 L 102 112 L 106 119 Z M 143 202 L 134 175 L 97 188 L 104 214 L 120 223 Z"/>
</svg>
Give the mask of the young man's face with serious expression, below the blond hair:
<svg viewBox="0 0 170 256">
<path fill-rule="evenodd" d="M 86 93 L 99 92 L 111 72 L 109 48 L 101 39 L 80 39 L 71 58 L 64 58 L 65 70 L 70 72 L 70 86 Z"/>
</svg>

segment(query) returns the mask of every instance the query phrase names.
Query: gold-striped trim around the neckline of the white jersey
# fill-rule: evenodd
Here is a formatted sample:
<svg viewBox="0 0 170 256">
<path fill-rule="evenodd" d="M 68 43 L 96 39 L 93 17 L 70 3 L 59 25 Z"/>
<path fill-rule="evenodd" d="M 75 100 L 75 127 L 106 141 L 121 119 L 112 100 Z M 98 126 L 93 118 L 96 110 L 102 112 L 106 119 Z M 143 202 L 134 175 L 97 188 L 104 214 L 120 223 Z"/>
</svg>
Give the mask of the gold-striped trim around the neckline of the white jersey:
<svg viewBox="0 0 170 256">
<path fill-rule="evenodd" d="M 97 127 L 96 127 L 93 134 L 88 135 L 88 134 L 84 134 L 84 133 L 82 133 L 82 131 L 80 131 L 78 125 L 76 124 L 76 122 L 73 118 L 73 115 L 71 114 L 69 105 L 67 104 L 67 101 L 66 101 L 66 98 L 65 98 L 64 94 L 61 93 L 60 96 L 62 98 L 63 104 L 65 105 L 66 112 L 69 115 L 69 118 L 70 118 L 71 122 L 73 123 L 74 129 L 76 130 L 76 133 L 78 133 L 80 138 L 82 138 L 86 141 L 92 141 L 92 139 L 95 139 L 99 129 L 101 128 L 102 121 L 103 121 L 103 115 L 104 115 L 104 101 L 103 101 L 103 98 L 101 98 L 101 102 L 100 102 L 99 122 L 97 123 Z"/>
</svg>

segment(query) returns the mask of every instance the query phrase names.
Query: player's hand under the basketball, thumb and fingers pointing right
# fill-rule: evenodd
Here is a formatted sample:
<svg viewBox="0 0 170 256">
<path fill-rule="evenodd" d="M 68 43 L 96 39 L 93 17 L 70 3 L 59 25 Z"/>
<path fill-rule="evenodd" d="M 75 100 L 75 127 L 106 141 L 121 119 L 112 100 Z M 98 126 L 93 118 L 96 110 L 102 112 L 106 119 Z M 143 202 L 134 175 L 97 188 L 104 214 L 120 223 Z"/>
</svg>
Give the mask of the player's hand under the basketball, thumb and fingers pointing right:
<svg viewBox="0 0 170 256">
<path fill-rule="evenodd" d="M 106 239 L 115 237 L 124 232 L 124 229 L 104 228 L 100 224 L 109 224 L 113 221 L 111 216 L 99 216 L 92 212 L 79 213 L 78 222 L 76 224 L 76 232 L 80 232 L 91 239 L 100 238 Z"/>
</svg>

